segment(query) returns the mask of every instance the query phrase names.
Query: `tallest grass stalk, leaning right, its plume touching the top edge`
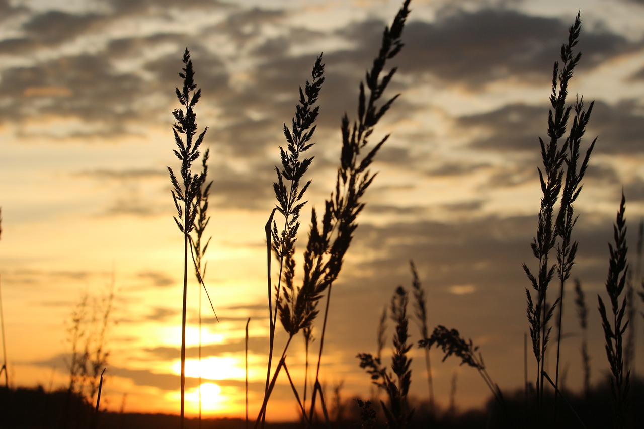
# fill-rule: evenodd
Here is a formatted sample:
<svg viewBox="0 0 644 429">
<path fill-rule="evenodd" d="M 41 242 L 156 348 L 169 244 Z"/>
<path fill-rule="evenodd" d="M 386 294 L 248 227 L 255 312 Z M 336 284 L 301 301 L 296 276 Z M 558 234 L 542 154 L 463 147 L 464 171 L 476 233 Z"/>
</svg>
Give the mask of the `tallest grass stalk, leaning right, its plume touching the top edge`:
<svg viewBox="0 0 644 429">
<path fill-rule="evenodd" d="M 375 174 L 370 173 L 368 168 L 379 149 L 389 138 L 389 135 L 386 135 L 373 148 L 368 149 L 366 155 L 361 153 L 369 144 L 375 125 L 398 97 L 395 95 L 378 106 L 379 100 L 397 70 L 392 68 L 390 72 L 381 77 L 386 62 L 393 59 L 403 48 L 401 37 L 404 23 L 410 12 L 409 3 L 410 0 L 405 0 L 393 19 L 392 26 L 384 28 L 383 42 L 378 56 L 374 59 L 372 69 L 366 72 L 368 99 L 365 84 L 360 83 L 357 120 L 350 124 L 346 113 L 342 119 L 341 166 L 337 171 L 336 191 L 325 202 L 321 231 L 318 229 L 316 212 L 312 213 L 311 231 L 305 252 L 305 280 L 302 287 L 303 291 L 310 291 L 307 292 L 310 294 L 310 299 L 307 300 L 310 302 L 310 309 L 307 312 L 312 318 L 317 315 L 319 297 L 328 289 L 317 356 L 316 385 L 319 385 L 319 370 L 332 285 L 340 272 L 344 255 L 351 243 L 355 228 L 357 228 L 357 215 L 365 208 L 362 197 L 375 178 Z M 331 241 L 332 236 L 334 236 L 333 241 Z M 328 258 L 325 258 L 327 253 L 329 253 Z M 314 414 L 316 393 L 317 391 L 314 390 L 309 419 L 312 419 Z"/>
</svg>

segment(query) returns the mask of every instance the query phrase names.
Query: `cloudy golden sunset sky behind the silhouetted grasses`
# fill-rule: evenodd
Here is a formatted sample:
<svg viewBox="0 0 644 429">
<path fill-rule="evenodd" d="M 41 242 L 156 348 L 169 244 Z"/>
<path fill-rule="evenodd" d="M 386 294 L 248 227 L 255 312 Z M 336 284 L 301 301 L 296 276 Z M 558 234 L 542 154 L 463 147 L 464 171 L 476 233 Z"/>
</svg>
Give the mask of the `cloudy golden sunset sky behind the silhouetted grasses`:
<svg viewBox="0 0 644 429">
<path fill-rule="evenodd" d="M 69 383 L 71 314 L 82 296 L 100 309 L 114 285 L 102 402 L 110 409 L 178 413 L 182 234 L 166 166 L 182 53 L 191 52 L 208 126 L 212 236 L 203 304 L 206 415 L 244 414 L 244 328 L 249 324 L 250 414 L 261 404 L 268 350 L 263 226 L 298 86 L 323 52 L 325 83 L 310 149 L 313 180 L 301 216 L 298 267 L 310 209 L 334 187 L 340 120 L 355 118 L 358 85 L 400 6 L 392 0 L 0 0 L 0 276 L 6 361 L 15 386 Z M 400 93 L 375 134 L 391 137 L 334 284 L 321 379 L 345 398 L 372 395 L 355 355 L 375 353 L 377 324 L 409 261 L 428 297 L 431 327 L 480 346 L 503 390 L 524 383 L 526 287 L 540 202 L 538 137 L 547 137 L 553 64 L 581 11 L 583 53 L 571 81 L 585 106 L 583 140 L 598 137 L 573 236 L 573 268 L 590 308 L 592 381 L 608 370 L 596 295 L 605 296 L 608 246 L 621 191 L 627 198 L 631 270 L 637 275 L 644 216 L 644 2 L 412 0 L 404 48 L 388 95 Z M 276 272 L 273 273 L 276 278 Z M 301 271 L 298 271 L 301 276 Z M 187 410 L 199 368 L 198 286 L 191 278 Z M 641 303 L 638 303 L 641 307 Z M 409 310 L 412 312 L 412 309 Z M 89 317 L 89 316 L 88 316 Z M 638 327 L 639 323 L 639 327 Z M 644 370 L 642 320 L 634 323 Z M 581 330 L 572 281 L 564 297 L 566 385 L 582 386 Z M 276 339 L 283 347 L 281 326 Z M 319 337 L 319 327 L 314 336 Z M 393 322 L 388 323 L 388 363 Z M 410 335 L 420 338 L 414 323 Z M 319 339 L 312 349 L 317 353 Z M 553 353 L 553 352 L 551 352 Z M 412 348 L 411 394 L 427 397 L 422 350 Z M 437 402 L 482 406 L 489 392 L 473 368 L 432 350 Z M 554 357 L 549 357 L 549 361 Z M 640 365 L 638 365 L 638 362 Z M 303 385 L 301 337 L 287 363 Z M 552 363 L 548 364 L 552 368 Z M 529 374 L 535 372 L 529 356 Z M 531 380 L 534 377 L 531 375 Z M 280 377 L 268 418 L 293 419 Z M 302 389 L 300 388 L 300 394 Z"/>
</svg>

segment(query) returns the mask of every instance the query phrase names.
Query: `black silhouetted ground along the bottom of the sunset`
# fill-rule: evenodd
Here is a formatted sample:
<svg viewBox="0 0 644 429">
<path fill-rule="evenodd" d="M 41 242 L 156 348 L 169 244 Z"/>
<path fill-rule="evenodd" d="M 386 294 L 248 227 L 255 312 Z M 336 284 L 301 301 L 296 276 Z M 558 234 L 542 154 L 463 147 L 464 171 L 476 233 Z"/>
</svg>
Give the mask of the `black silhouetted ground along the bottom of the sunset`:
<svg viewBox="0 0 644 429">
<path fill-rule="evenodd" d="M 505 406 L 497 405 L 492 400 L 485 410 L 473 410 L 450 414 L 440 412 L 430 416 L 426 403 L 415 403 L 413 419 L 408 426 L 412 428 L 436 429 L 469 429 L 499 428 L 520 429 L 536 428 L 535 410 L 526 406 L 525 392 L 506 392 Z M 612 428 L 612 403 L 608 383 L 598 385 L 588 396 L 565 392 L 567 400 L 579 415 L 588 429 Z M 530 402 L 530 401 L 529 401 Z M 553 426 L 552 397 L 548 398 L 544 428 Z M 359 410 L 355 401 L 346 401 L 345 418 L 334 421 L 332 428 L 360 428 Z M 380 406 L 374 406 L 379 410 Z M 583 428 L 565 403 L 560 402 L 558 428 Z M 332 411 L 332 415 L 336 415 Z M 383 415 L 378 416 L 375 428 L 384 428 Z M 96 424 L 96 426 L 94 426 Z M 252 422 L 249 427 L 252 428 Z M 326 425 L 319 424 L 323 428 Z M 101 412 L 97 421 L 93 421 L 93 407 L 84 403 L 77 396 L 70 396 L 66 391 L 44 392 L 43 388 L 0 388 L 0 428 L 3 429 L 176 429 L 179 427 L 177 415 L 166 414 L 118 414 Z M 266 428 L 300 428 L 299 423 L 267 423 Z M 365 426 L 366 427 L 366 426 Z M 632 381 L 630 388 L 630 413 L 627 428 L 644 428 L 644 381 Z M 187 419 L 185 429 L 198 429 L 197 419 Z M 246 429 L 242 419 L 216 419 L 202 421 L 202 429 Z"/>
</svg>

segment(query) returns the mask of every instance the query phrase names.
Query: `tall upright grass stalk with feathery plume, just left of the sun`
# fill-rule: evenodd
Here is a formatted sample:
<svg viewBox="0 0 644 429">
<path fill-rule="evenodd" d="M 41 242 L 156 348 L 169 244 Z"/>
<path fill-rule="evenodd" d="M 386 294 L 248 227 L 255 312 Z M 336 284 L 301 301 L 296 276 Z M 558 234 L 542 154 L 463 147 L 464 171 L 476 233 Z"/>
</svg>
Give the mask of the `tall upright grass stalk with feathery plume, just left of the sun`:
<svg viewBox="0 0 644 429">
<path fill-rule="evenodd" d="M 175 156 L 181 161 L 180 184 L 176 178 L 174 171 L 171 167 L 167 167 L 170 175 L 170 181 L 173 187 L 171 191 L 173 202 L 175 203 L 177 216 L 173 217 L 179 231 L 184 235 L 184 289 L 182 299 L 182 314 L 181 314 L 181 405 L 180 405 L 180 428 L 184 427 L 184 408 L 185 408 L 185 315 L 186 315 L 186 302 L 187 302 L 187 281 L 188 281 L 188 249 L 191 244 L 190 233 L 194 229 L 194 219 L 197 214 L 197 209 L 194 206 L 194 200 L 202 184 L 204 183 L 204 176 L 192 173 L 192 163 L 199 157 L 199 147 L 204 141 L 207 127 L 204 128 L 196 140 L 194 139 L 197 133 L 196 114 L 194 113 L 194 106 L 201 97 L 201 89 L 197 89 L 194 84 L 194 70 L 193 62 L 190 59 L 190 53 L 187 48 L 184 52 L 183 62 L 185 67 L 182 68 L 183 73 L 179 76 L 183 80 L 182 89 L 175 88 L 176 98 L 180 104 L 184 106 L 184 110 L 175 109 L 173 116 L 175 117 L 175 124 L 173 124 L 173 134 L 175 136 L 175 144 L 177 149 L 173 152 Z M 182 139 L 185 136 L 185 142 Z M 192 249 L 190 249 L 192 250 Z"/>
</svg>

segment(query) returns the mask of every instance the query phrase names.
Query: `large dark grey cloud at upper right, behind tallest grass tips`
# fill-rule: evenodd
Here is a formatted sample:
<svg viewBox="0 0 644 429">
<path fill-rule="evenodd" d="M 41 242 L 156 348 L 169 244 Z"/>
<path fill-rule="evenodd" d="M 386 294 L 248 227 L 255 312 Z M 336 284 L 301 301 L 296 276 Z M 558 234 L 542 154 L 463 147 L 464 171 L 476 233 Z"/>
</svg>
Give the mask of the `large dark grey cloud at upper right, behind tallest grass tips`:
<svg viewBox="0 0 644 429">
<path fill-rule="evenodd" d="M 437 23 L 412 21 L 405 28 L 401 71 L 430 73 L 471 89 L 508 78 L 547 82 L 570 24 L 504 9 L 455 10 Z M 349 31 L 364 40 L 372 28 L 365 23 Z M 580 68 L 592 68 L 634 48 L 607 32 L 584 32 L 580 39 Z"/>
</svg>

